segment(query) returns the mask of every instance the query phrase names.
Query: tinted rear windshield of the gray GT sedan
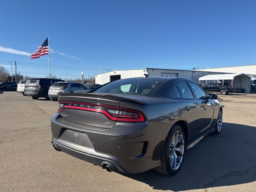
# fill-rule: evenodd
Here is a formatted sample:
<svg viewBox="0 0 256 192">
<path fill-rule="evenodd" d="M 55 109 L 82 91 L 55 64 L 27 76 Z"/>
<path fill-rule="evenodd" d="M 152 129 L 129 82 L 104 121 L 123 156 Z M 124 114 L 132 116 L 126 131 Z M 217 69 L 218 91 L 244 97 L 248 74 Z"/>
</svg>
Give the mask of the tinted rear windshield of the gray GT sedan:
<svg viewBox="0 0 256 192">
<path fill-rule="evenodd" d="M 118 93 L 118 94 L 134 94 L 134 95 L 148 95 L 161 82 L 166 81 L 164 78 L 133 78 L 121 79 L 105 86 L 102 86 L 95 93 Z"/>
</svg>

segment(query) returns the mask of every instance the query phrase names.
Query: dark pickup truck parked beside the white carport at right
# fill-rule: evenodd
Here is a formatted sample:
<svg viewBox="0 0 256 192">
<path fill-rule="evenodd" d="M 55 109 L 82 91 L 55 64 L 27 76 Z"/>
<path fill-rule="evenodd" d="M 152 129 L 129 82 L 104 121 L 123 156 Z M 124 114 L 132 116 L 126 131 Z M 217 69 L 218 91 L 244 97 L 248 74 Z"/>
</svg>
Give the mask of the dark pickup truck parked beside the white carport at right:
<svg viewBox="0 0 256 192">
<path fill-rule="evenodd" d="M 227 95 L 230 92 L 234 91 L 234 87 L 232 85 L 222 85 L 221 83 L 209 83 L 202 84 L 198 83 L 206 92 L 220 92 L 222 95 Z"/>
</svg>

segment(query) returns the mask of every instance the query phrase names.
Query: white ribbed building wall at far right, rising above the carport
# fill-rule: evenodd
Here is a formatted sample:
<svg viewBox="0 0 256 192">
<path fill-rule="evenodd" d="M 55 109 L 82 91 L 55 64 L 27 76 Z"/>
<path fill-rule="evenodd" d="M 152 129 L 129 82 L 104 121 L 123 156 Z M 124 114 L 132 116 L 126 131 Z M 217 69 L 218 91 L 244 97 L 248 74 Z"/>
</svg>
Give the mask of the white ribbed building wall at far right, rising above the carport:
<svg viewBox="0 0 256 192">
<path fill-rule="evenodd" d="M 222 72 L 222 73 L 237 73 L 237 74 L 243 73 L 243 74 L 249 75 L 250 77 L 256 77 L 256 65 L 206 68 L 206 69 L 198 69 L 198 70 L 207 71 L 207 72 Z"/>
</svg>

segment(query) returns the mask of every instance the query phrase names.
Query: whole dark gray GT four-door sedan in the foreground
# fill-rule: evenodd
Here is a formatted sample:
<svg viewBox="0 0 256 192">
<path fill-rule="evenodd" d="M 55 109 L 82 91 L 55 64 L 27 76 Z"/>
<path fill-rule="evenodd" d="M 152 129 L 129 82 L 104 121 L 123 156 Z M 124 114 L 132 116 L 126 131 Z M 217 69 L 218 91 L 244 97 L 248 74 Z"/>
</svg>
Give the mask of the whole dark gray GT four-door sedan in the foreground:
<svg viewBox="0 0 256 192">
<path fill-rule="evenodd" d="M 51 120 L 55 150 L 109 172 L 155 168 L 174 175 L 187 149 L 222 128 L 217 95 L 185 78 L 128 78 L 91 93 L 58 95 Z"/>
</svg>

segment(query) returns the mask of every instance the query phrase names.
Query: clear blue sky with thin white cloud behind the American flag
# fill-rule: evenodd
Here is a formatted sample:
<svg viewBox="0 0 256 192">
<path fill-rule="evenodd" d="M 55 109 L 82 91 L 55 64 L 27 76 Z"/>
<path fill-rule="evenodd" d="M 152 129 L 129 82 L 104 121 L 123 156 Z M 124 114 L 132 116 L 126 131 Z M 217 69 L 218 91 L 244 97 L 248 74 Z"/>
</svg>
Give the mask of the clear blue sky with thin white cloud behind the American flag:
<svg viewBox="0 0 256 192">
<path fill-rule="evenodd" d="M 0 64 L 48 74 L 30 59 L 50 37 L 51 73 L 256 64 L 255 0 L 1 0 Z M 18 51 L 21 51 L 18 52 Z M 29 53 L 29 54 L 28 54 Z"/>
</svg>

